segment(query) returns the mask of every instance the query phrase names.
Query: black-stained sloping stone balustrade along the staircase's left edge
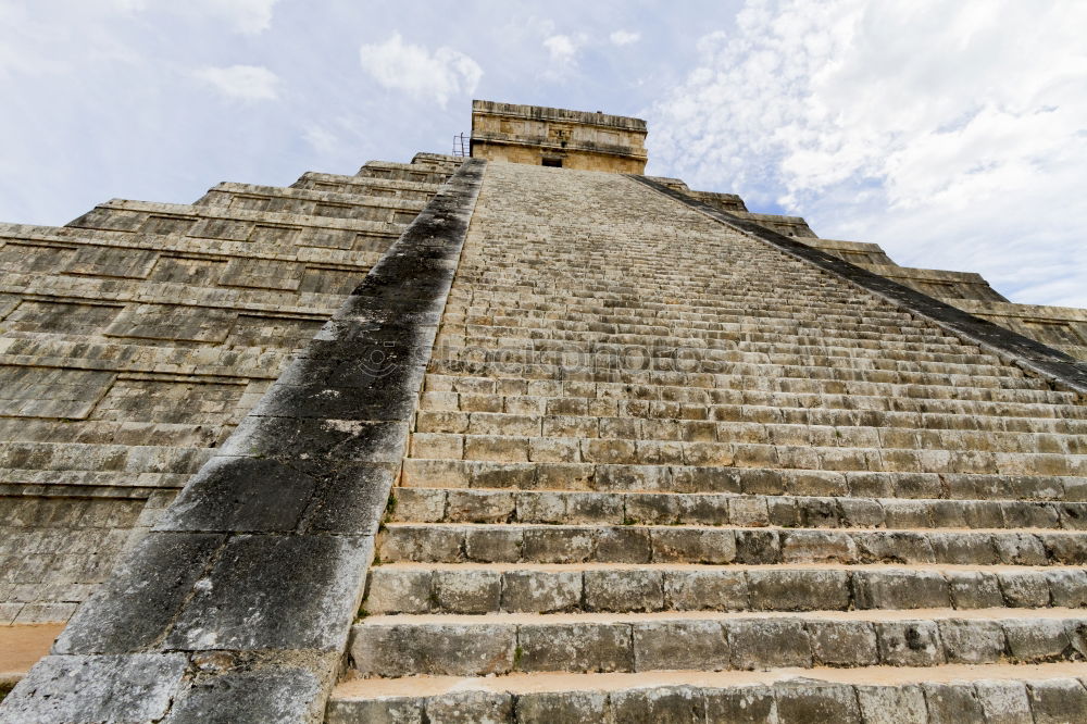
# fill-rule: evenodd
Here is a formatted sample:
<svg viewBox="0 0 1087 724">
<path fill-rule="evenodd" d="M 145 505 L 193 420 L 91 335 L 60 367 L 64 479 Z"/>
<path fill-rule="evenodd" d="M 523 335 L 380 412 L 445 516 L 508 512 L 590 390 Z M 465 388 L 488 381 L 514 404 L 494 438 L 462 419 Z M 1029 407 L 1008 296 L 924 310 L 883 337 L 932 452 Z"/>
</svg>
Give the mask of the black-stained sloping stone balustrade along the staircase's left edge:
<svg viewBox="0 0 1087 724">
<path fill-rule="evenodd" d="M 460 164 L 0 720 L 323 719 L 483 166 Z"/>
</svg>

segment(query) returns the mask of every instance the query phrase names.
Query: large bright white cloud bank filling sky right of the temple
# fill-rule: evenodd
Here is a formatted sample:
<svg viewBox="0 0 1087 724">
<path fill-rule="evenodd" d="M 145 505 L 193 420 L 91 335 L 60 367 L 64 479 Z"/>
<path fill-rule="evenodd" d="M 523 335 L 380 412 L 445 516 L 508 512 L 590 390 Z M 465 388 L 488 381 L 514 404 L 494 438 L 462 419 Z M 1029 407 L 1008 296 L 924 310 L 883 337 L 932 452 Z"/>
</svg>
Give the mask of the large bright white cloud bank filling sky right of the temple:
<svg viewBox="0 0 1087 724">
<path fill-rule="evenodd" d="M 649 113 L 650 159 L 900 263 L 1087 305 L 1087 4 L 749 0 Z"/>
</svg>

